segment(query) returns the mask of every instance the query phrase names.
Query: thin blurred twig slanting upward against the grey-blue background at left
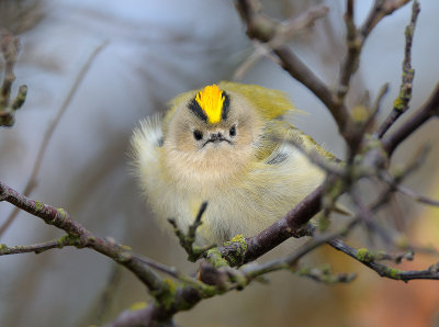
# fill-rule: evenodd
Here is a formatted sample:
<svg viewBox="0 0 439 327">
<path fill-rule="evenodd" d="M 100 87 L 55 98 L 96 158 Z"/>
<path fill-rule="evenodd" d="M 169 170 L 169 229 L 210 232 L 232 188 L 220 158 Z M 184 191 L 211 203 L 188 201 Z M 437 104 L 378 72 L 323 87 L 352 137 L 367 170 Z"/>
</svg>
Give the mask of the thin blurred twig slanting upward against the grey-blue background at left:
<svg viewBox="0 0 439 327">
<path fill-rule="evenodd" d="M 76 91 L 78 90 L 79 84 L 83 80 L 87 71 L 90 69 L 91 64 L 98 56 L 98 54 L 105 47 L 108 43 L 104 42 L 101 45 L 99 45 L 90 55 L 90 57 L 87 59 L 86 64 L 82 66 L 81 70 L 79 71 L 77 78 L 74 81 L 74 84 L 71 86 L 71 89 L 67 93 L 66 99 L 64 100 L 61 106 L 59 108 L 55 119 L 52 121 L 52 123 L 48 125 L 46 132 L 44 133 L 43 140 L 40 145 L 40 149 L 34 162 L 34 167 L 32 168 L 31 176 L 29 177 L 27 183 L 24 187 L 24 190 L 22 192 L 23 195 L 29 196 L 31 195 L 32 191 L 36 187 L 36 177 L 40 172 L 41 165 L 44 159 L 44 155 L 46 154 L 47 146 L 52 139 L 52 136 L 54 135 L 54 132 L 56 129 L 56 126 L 58 126 L 59 121 L 63 117 L 63 114 L 66 112 L 68 105 L 70 104 L 71 99 L 74 98 Z M 7 232 L 8 227 L 12 224 L 12 222 L 15 219 L 16 215 L 19 214 L 19 208 L 14 207 L 14 210 L 11 212 L 11 214 L 8 216 L 5 222 L 0 226 L 0 237 Z"/>
</svg>

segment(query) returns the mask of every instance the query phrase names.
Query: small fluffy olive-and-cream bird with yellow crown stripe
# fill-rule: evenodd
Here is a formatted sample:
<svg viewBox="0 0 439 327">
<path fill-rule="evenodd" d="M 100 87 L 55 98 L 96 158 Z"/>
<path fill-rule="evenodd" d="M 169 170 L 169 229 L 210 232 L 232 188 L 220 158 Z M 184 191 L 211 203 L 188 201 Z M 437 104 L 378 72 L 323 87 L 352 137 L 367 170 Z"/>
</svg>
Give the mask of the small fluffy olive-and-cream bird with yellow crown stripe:
<svg viewBox="0 0 439 327">
<path fill-rule="evenodd" d="M 335 159 L 282 120 L 292 110 L 281 91 L 223 81 L 182 93 L 165 116 L 140 121 L 132 154 L 159 222 L 172 217 L 184 232 L 206 201 L 196 243 L 219 245 L 284 216 L 325 178 L 306 151 Z"/>
</svg>

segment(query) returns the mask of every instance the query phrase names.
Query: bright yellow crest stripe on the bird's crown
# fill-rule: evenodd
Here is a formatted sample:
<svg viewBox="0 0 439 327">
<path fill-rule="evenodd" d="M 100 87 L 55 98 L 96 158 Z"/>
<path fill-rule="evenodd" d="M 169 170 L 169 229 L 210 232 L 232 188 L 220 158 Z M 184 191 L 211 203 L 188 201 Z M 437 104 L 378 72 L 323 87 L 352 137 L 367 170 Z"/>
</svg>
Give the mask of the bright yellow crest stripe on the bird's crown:
<svg viewBox="0 0 439 327">
<path fill-rule="evenodd" d="M 219 90 L 216 84 L 206 86 L 195 97 L 195 101 L 201 106 L 207 116 L 207 122 L 211 124 L 219 123 L 224 100 L 223 91 Z"/>
</svg>

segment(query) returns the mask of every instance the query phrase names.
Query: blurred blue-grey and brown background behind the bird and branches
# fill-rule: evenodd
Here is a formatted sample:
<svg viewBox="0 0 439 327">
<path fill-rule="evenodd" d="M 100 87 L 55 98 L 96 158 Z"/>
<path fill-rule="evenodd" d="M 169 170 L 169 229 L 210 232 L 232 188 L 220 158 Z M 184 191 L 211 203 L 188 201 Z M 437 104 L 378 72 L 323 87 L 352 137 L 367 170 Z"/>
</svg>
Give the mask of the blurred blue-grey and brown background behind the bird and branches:
<svg viewBox="0 0 439 327">
<path fill-rule="evenodd" d="M 345 54 L 344 1 L 278 0 L 263 5 L 268 14 L 285 19 L 325 2 L 328 15 L 296 35 L 292 48 L 335 87 Z M 371 2 L 356 1 L 358 23 Z M 413 47 L 412 111 L 427 100 L 439 77 L 439 2 L 425 0 L 420 5 Z M 398 93 L 409 16 L 410 4 L 376 26 L 352 82 L 351 104 L 365 90 L 373 100 L 381 86 L 390 82 L 380 120 Z M 243 71 L 255 47 L 232 1 L 0 0 L 0 26 L 19 35 L 22 44 L 14 93 L 19 84 L 29 86 L 15 125 L 0 129 L 0 180 L 23 190 L 45 131 L 90 55 L 105 43 L 55 129 L 31 198 L 64 207 L 97 235 L 112 236 L 138 253 L 188 273 L 196 264 L 187 262 L 177 241 L 156 227 L 131 173 L 130 136 L 139 119 L 165 110 L 179 92 L 235 79 L 288 92 L 306 113 L 292 117 L 294 124 L 326 149 L 345 156 L 330 115 L 307 89 L 266 58 Z M 407 185 L 438 199 L 436 124 L 428 123 L 410 137 L 393 164 L 406 162 L 430 142 L 430 155 Z M 407 198 L 394 203 L 392 213 L 399 216 L 399 227 L 410 241 L 439 247 L 437 208 Z M 11 211 L 11 205 L 0 204 L 0 225 Z M 359 241 L 358 234 L 351 244 L 369 246 Z M 20 213 L 0 243 L 29 245 L 61 235 Z M 438 260 L 415 259 L 402 268 L 423 269 Z M 204 301 L 178 314 L 176 322 L 181 326 L 439 326 L 439 282 L 404 284 L 381 279 L 329 248 L 307 260 L 316 266 L 330 262 L 335 271 L 358 272 L 358 278 L 347 285 L 327 286 L 288 272 L 273 273 L 269 284 Z M 99 325 L 136 302 L 148 301 L 146 289 L 128 271 L 87 249 L 1 257 L 0 275 L 0 326 Z"/>
</svg>

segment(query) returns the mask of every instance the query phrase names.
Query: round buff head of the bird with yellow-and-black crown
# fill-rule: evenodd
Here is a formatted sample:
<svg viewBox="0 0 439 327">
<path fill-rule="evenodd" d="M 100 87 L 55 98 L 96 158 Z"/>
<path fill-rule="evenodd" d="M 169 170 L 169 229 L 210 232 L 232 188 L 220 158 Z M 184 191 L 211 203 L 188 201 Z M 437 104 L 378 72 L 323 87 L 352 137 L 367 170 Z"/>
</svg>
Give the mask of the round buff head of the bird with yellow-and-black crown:
<svg viewBox="0 0 439 327">
<path fill-rule="evenodd" d="M 165 137 L 166 164 L 185 183 L 226 182 L 247 167 L 261 129 L 243 97 L 206 87 L 177 106 Z"/>
</svg>

